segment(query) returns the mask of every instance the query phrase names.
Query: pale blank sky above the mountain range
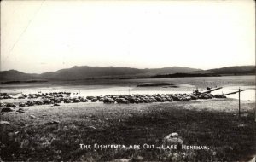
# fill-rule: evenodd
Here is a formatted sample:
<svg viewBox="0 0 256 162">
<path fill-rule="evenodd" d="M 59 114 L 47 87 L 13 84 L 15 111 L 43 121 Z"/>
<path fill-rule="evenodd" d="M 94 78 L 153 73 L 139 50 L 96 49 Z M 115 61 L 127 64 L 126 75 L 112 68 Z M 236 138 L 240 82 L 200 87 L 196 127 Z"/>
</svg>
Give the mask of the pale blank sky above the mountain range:
<svg viewBox="0 0 256 162">
<path fill-rule="evenodd" d="M 1 71 L 255 65 L 255 3 L 1 1 Z"/>
</svg>

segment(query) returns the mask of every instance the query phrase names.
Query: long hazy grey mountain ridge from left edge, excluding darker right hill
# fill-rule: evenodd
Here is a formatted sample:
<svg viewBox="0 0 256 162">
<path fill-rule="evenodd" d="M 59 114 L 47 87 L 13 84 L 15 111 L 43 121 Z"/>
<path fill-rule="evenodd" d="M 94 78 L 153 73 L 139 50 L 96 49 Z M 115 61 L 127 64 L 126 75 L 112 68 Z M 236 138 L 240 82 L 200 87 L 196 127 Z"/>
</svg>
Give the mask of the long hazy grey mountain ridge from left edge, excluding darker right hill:
<svg viewBox="0 0 256 162">
<path fill-rule="evenodd" d="M 17 81 L 27 79 L 71 80 L 82 78 L 116 78 L 124 76 L 152 76 L 157 74 L 170 74 L 176 72 L 193 72 L 201 69 L 189 67 L 165 67 L 153 69 L 138 69 L 130 67 L 88 67 L 74 66 L 61 69 L 56 72 L 44 72 L 42 74 L 27 74 L 15 70 L 0 72 L 1 81 Z"/>
</svg>

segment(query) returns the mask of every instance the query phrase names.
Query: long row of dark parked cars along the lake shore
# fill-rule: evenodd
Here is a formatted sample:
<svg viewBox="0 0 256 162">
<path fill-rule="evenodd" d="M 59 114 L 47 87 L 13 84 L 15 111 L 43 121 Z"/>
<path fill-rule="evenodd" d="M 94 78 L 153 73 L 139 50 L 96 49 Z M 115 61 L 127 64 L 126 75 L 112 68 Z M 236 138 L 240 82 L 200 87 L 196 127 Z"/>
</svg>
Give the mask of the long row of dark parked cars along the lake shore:
<svg viewBox="0 0 256 162">
<path fill-rule="evenodd" d="M 8 95 L 4 95 L 8 96 Z M 49 94 L 30 94 L 20 96 L 29 101 L 22 101 L 18 104 L 0 102 L 0 107 L 30 107 L 34 105 L 49 105 L 58 106 L 60 103 L 78 103 L 78 102 L 103 102 L 103 103 L 152 103 L 165 101 L 190 101 L 198 99 L 225 98 L 224 95 L 212 94 L 155 94 L 155 95 L 104 95 L 104 96 L 70 96 L 70 93 L 49 93 Z M 33 96 L 29 98 L 29 96 Z M 34 96 L 36 98 L 34 98 Z M 18 97 L 19 99 L 19 97 Z M 23 98 L 22 98 L 23 99 Z"/>
</svg>

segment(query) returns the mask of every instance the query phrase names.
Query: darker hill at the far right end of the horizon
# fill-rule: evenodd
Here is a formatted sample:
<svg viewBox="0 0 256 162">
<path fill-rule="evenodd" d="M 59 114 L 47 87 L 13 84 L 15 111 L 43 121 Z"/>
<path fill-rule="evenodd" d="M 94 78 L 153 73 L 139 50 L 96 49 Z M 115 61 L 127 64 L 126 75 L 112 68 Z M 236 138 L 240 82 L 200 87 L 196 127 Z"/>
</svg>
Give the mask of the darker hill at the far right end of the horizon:
<svg viewBox="0 0 256 162">
<path fill-rule="evenodd" d="M 194 71 L 191 73 L 215 73 L 220 75 L 245 75 L 245 74 L 255 74 L 255 66 L 234 66 L 234 67 L 222 67 L 214 68 L 204 71 Z"/>
</svg>

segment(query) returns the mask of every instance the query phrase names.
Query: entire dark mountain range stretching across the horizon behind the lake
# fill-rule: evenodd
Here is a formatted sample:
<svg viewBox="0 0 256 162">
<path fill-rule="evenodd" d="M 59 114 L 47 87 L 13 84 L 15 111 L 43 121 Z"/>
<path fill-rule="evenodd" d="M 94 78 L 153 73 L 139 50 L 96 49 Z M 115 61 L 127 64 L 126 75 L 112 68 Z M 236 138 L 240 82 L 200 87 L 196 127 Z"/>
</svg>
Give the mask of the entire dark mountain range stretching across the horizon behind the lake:
<svg viewBox="0 0 256 162">
<path fill-rule="evenodd" d="M 255 74 L 255 66 L 222 67 L 209 70 L 201 70 L 189 67 L 164 67 L 164 68 L 131 68 L 131 67 L 88 67 L 74 66 L 61 69 L 56 72 L 24 73 L 16 70 L 1 71 L 0 81 L 24 81 L 24 80 L 74 80 L 86 78 L 129 78 L 152 77 L 155 75 L 168 75 L 174 73 L 211 73 L 226 75 Z"/>
</svg>

